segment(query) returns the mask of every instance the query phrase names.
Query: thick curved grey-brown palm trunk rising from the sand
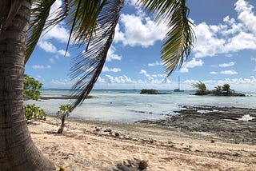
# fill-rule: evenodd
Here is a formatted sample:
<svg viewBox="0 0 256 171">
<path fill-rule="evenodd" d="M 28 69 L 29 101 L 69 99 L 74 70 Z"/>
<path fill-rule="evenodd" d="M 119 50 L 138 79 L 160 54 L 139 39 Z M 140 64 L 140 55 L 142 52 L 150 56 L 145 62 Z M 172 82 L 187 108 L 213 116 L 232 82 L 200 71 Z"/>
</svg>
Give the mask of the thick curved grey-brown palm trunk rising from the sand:
<svg viewBox="0 0 256 171">
<path fill-rule="evenodd" d="M 13 1 L 6 2 L 6 6 L 1 6 L 4 12 Z M 13 21 L 0 34 L 0 170 L 55 170 L 34 145 L 26 125 L 23 74 L 31 1 L 20 3 Z"/>
</svg>

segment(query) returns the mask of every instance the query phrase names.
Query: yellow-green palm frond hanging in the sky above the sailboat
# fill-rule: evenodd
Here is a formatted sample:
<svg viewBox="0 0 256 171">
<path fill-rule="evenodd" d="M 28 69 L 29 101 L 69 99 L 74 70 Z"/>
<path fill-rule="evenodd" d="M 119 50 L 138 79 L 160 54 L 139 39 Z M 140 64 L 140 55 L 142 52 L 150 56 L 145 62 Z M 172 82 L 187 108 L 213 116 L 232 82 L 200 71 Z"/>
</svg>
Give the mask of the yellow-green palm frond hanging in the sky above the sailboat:
<svg viewBox="0 0 256 171">
<path fill-rule="evenodd" d="M 156 13 L 156 21 L 168 26 L 161 58 L 169 76 L 177 67 L 182 66 L 193 48 L 193 23 L 187 18 L 190 10 L 186 6 L 186 0 L 138 0 L 138 3 Z"/>
</svg>

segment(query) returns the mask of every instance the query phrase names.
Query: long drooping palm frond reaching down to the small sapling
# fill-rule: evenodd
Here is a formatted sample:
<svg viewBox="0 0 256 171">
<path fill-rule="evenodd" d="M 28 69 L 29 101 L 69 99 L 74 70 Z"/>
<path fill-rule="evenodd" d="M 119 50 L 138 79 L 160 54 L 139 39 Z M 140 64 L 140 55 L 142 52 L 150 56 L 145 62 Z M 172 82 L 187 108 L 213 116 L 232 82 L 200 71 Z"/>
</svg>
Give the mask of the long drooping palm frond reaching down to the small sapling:
<svg viewBox="0 0 256 171">
<path fill-rule="evenodd" d="M 122 4 L 123 0 L 83 1 L 77 9 L 78 14 L 74 12 L 74 44 L 87 44 L 86 50 L 71 61 L 70 78 L 78 79 L 72 86 L 76 90 L 73 96 L 77 99 L 74 107 L 86 99 L 101 74 Z"/>
</svg>

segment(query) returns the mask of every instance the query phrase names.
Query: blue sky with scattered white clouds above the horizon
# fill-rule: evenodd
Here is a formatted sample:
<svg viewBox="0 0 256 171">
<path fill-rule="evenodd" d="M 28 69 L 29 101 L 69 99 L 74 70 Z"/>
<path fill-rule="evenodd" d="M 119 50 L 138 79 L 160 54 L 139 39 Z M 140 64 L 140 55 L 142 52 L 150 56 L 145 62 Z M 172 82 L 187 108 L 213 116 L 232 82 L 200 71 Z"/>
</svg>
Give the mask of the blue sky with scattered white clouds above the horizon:
<svg viewBox="0 0 256 171">
<path fill-rule="evenodd" d="M 181 70 L 166 79 L 160 50 L 166 27 L 128 0 L 122 10 L 114 43 L 95 85 L 98 89 L 182 89 L 204 82 L 208 89 L 230 84 L 236 91 L 256 92 L 256 2 L 254 0 L 187 1 L 196 34 L 194 49 Z M 57 1 L 57 9 L 62 1 Z M 43 34 L 26 64 L 26 74 L 43 88 L 70 88 L 70 60 L 82 49 L 71 47 L 64 57 L 69 30 L 65 22 Z"/>
</svg>

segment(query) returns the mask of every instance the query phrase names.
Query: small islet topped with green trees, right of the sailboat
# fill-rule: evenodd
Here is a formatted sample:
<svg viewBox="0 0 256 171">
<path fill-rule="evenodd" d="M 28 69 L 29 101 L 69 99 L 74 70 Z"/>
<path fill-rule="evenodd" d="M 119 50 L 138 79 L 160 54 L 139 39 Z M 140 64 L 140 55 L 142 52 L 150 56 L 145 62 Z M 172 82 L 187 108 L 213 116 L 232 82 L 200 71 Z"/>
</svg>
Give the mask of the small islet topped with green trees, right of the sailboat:
<svg viewBox="0 0 256 171">
<path fill-rule="evenodd" d="M 230 89 L 229 84 L 215 86 L 213 90 L 206 89 L 206 85 L 202 82 L 196 82 L 192 86 L 196 89 L 195 95 L 245 96 L 243 93 L 235 93 L 234 89 Z"/>
</svg>

